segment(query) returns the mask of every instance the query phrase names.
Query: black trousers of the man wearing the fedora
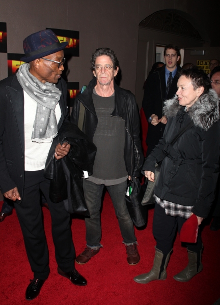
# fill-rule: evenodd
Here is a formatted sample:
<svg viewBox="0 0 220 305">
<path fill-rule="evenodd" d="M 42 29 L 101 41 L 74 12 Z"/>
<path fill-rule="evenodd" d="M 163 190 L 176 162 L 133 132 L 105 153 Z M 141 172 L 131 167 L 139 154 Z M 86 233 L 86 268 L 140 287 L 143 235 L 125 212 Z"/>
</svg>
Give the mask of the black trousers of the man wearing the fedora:
<svg viewBox="0 0 220 305">
<path fill-rule="evenodd" d="M 75 249 L 70 227 L 70 214 L 64 203 L 49 199 L 50 180 L 44 178 L 44 170 L 25 171 L 22 202 L 15 203 L 18 220 L 23 233 L 26 253 L 34 272 L 34 278 L 45 280 L 49 275 L 48 247 L 43 228 L 40 190 L 45 196 L 52 220 L 52 238 L 58 266 L 69 272 L 74 268 Z"/>
</svg>

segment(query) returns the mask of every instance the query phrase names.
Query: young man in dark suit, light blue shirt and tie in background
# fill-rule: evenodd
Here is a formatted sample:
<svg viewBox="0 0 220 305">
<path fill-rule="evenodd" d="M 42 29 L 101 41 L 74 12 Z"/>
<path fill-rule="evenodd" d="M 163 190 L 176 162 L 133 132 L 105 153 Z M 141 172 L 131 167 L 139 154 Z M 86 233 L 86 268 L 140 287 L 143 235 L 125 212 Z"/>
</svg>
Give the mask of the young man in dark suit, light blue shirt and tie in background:
<svg viewBox="0 0 220 305">
<path fill-rule="evenodd" d="M 180 58 L 179 48 L 169 44 L 164 48 L 166 65 L 156 69 L 149 77 L 145 86 L 142 107 L 148 120 L 147 156 L 158 144 L 167 124 L 167 117 L 163 115 L 163 103 L 172 99 L 177 92 L 178 72 L 181 71 L 177 62 Z"/>
</svg>

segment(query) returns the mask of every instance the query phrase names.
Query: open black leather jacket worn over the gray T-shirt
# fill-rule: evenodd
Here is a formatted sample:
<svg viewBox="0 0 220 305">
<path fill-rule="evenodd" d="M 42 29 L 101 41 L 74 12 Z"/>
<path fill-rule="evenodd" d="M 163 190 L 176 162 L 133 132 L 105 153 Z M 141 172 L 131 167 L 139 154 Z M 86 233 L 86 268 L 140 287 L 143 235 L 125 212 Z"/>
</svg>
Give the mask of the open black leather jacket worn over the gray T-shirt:
<svg viewBox="0 0 220 305">
<path fill-rule="evenodd" d="M 71 113 L 71 123 L 78 124 L 80 103 L 86 108 L 82 131 L 93 140 L 98 124 L 92 93 L 96 85 L 93 78 L 85 91 L 78 95 L 74 101 Z M 130 176 L 139 176 L 143 164 L 143 153 L 140 140 L 140 117 L 134 95 L 129 91 L 114 84 L 115 109 L 112 116 L 120 116 L 125 121 L 125 166 Z"/>
</svg>

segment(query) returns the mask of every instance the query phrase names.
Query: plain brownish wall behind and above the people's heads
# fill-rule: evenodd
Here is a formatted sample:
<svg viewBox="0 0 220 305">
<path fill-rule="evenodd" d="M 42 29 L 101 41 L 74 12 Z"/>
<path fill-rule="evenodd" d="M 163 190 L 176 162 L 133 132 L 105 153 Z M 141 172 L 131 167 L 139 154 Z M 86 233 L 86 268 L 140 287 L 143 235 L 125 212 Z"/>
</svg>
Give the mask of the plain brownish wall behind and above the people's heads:
<svg viewBox="0 0 220 305">
<path fill-rule="evenodd" d="M 69 62 L 68 75 L 68 81 L 79 81 L 80 87 L 92 78 L 89 70 L 92 52 L 107 46 L 114 49 L 119 59 L 121 86 L 135 92 L 138 25 L 155 11 L 182 10 L 199 23 L 206 18 L 214 45 L 220 33 L 216 24 L 208 25 L 206 15 L 211 8 L 205 0 L 0 0 L 0 5 L 0 21 L 7 22 L 9 53 L 23 53 L 23 39 L 46 27 L 80 32 L 80 56 Z M 213 10 L 212 14 L 217 13 Z M 7 76 L 7 55 L 0 53 L 0 79 Z"/>
</svg>

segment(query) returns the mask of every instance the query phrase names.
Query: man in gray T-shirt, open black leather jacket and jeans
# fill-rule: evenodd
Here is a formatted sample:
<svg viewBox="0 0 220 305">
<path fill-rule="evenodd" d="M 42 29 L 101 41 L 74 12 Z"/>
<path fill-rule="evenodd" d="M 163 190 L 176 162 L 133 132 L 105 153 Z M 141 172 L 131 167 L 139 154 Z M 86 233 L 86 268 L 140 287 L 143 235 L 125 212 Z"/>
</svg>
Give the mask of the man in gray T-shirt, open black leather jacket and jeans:
<svg viewBox="0 0 220 305">
<path fill-rule="evenodd" d="M 75 261 L 86 264 L 102 247 L 100 209 L 103 189 L 106 187 L 115 207 L 127 262 L 135 265 L 139 263 L 140 255 L 133 222 L 125 203 L 125 191 L 127 179 L 139 176 L 143 163 L 139 112 L 134 95 L 114 81 L 119 71 L 114 51 L 109 48 L 97 49 L 91 63 L 94 78 L 75 99 L 71 113 L 72 122 L 78 125 L 81 109 L 85 109 L 82 131 L 97 147 L 93 174 L 83 181 L 90 211 L 90 218 L 85 219 L 87 244 Z M 114 245 L 111 255 L 115 255 Z"/>
</svg>

